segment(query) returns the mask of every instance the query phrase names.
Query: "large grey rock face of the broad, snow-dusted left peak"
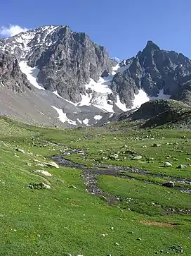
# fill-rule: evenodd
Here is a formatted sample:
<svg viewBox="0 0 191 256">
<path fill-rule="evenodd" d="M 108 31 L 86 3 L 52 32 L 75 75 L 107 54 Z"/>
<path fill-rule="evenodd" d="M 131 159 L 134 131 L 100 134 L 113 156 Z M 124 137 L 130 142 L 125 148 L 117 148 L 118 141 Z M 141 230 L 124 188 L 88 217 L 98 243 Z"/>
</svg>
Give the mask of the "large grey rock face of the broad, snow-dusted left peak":
<svg viewBox="0 0 191 256">
<path fill-rule="evenodd" d="M 32 68 L 37 67 L 38 82 L 46 90 L 57 90 L 72 102 L 80 102 L 81 94 L 85 94 L 84 85 L 90 78 L 97 81 L 103 72 L 112 72 L 112 61 L 104 47 L 67 26 L 46 26 L 23 32 L 1 42 L 0 49 L 19 61 L 26 61 Z"/>
</svg>

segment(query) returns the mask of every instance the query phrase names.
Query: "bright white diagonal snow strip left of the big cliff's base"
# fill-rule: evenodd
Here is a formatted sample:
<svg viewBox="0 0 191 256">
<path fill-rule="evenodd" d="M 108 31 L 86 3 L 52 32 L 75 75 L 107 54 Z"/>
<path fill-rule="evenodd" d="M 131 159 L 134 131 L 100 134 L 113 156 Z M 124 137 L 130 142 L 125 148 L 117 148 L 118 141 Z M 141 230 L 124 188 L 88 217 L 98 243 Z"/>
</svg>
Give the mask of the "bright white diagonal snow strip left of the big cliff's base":
<svg viewBox="0 0 191 256">
<path fill-rule="evenodd" d="M 27 80 L 29 80 L 29 83 L 31 83 L 37 89 L 45 90 L 44 87 L 37 83 L 37 75 L 39 73 L 39 69 L 37 67 L 31 68 L 27 66 L 26 61 L 20 61 L 19 66 L 22 73 L 27 75 Z"/>
</svg>

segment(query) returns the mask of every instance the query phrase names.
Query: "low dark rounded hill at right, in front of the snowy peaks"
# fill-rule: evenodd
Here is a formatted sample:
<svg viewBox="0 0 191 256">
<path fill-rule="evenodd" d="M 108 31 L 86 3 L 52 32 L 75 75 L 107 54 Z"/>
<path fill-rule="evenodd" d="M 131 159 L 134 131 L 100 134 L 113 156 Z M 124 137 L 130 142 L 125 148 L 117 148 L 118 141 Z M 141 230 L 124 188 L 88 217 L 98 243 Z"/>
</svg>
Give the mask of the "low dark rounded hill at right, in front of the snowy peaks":
<svg viewBox="0 0 191 256">
<path fill-rule="evenodd" d="M 154 127 L 190 130 L 191 106 L 174 99 L 155 99 L 136 111 L 113 115 L 108 123 L 110 130 L 118 131 Z"/>
</svg>

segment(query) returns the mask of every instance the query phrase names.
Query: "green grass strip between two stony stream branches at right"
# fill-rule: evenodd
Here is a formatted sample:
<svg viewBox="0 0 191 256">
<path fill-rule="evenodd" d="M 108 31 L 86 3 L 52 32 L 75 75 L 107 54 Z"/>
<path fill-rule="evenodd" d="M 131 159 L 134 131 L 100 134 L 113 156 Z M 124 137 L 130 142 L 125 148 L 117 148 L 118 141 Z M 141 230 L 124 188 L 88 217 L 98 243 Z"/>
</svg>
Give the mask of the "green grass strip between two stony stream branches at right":
<svg viewBox="0 0 191 256">
<path fill-rule="evenodd" d="M 126 206 L 136 212 L 147 213 L 152 216 L 158 214 L 159 211 L 164 213 L 165 211 L 162 207 L 175 209 L 191 208 L 190 195 L 181 193 L 178 190 L 164 189 L 164 187 L 159 185 L 113 176 L 100 176 L 98 181 L 100 188 L 108 193 L 131 198 Z M 152 206 L 152 203 L 154 206 Z M 141 209 L 140 205 L 145 205 L 147 209 L 145 207 Z M 162 205 L 162 207 L 159 207 L 159 205 Z"/>
</svg>

